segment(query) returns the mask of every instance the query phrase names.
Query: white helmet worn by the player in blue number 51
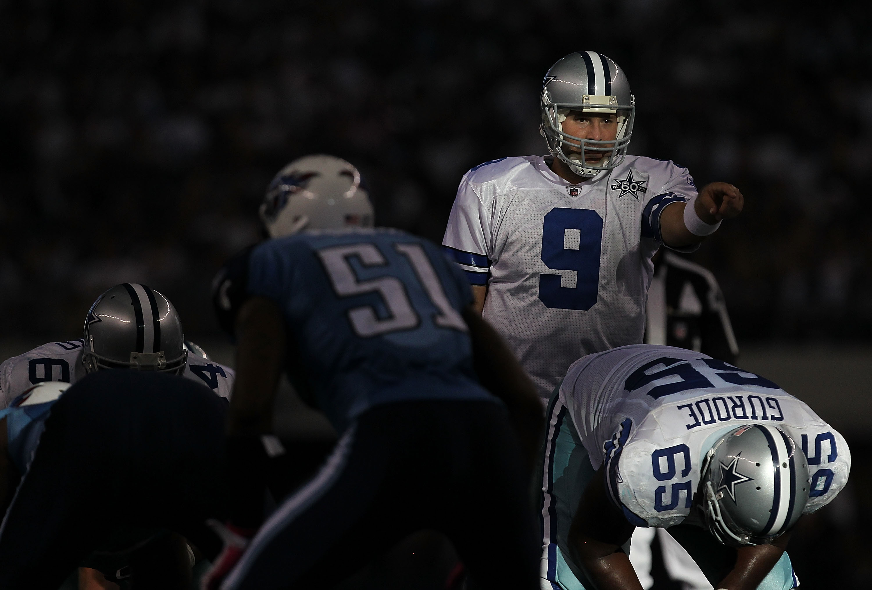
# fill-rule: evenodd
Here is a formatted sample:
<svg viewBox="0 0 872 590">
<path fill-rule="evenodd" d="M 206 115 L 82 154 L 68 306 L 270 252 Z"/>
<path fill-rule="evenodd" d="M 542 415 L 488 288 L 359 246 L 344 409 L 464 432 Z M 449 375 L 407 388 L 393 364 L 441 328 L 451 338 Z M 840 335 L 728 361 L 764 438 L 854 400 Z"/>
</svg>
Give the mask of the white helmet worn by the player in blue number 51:
<svg viewBox="0 0 872 590">
<path fill-rule="evenodd" d="M 270 238 L 303 229 L 372 227 L 372 204 L 358 169 L 324 154 L 284 166 L 269 183 L 260 216 Z"/>
</svg>

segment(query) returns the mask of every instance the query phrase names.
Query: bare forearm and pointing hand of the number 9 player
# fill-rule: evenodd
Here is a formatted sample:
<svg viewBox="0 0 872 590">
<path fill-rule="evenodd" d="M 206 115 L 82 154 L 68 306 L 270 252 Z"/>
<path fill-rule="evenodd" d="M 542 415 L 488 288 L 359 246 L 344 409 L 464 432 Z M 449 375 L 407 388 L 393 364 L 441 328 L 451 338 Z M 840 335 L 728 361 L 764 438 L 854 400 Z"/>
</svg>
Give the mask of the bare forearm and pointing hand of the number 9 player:
<svg viewBox="0 0 872 590">
<path fill-rule="evenodd" d="M 745 198 L 735 186 L 726 182 L 712 182 L 703 186 L 699 196 L 692 202 L 698 218 L 714 225 L 741 213 Z M 666 206 L 660 216 L 660 234 L 664 243 L 672 248 L 684 248 L 705 240 L 705 236 L 692 234 L 685 225 L 685 203 Z"/>
</svg>

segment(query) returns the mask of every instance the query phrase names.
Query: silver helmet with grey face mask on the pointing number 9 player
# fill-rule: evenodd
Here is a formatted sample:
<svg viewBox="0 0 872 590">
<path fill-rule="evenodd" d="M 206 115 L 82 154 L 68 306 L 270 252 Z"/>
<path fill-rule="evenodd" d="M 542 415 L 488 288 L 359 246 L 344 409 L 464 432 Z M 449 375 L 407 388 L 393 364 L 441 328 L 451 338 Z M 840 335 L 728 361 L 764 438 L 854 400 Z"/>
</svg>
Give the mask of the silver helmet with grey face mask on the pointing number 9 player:
<svg viewBox="0 0 872 590">
<path fill-rule="evenodd" d="M 577 51 L 552 65 L 542 80 L 539 106 L 542 109 L 539 130 L 548 141 L 548 151 L 566 162 L 574 173 L 590 178 L 623 162 L 633 134 L 636 98 L 623 70 L 602 53 Z M 581 139 L 563 132 L 562 123 L 570 111 L 614 114 L 617 138 Z M 570 147 L 569 153 L 564 146 Z M 578 148 L 581 153 L 573 151 Z M 597 166 L 585 161 L 585 153 L 589 152 L 603 153 Z"/>
</svg>

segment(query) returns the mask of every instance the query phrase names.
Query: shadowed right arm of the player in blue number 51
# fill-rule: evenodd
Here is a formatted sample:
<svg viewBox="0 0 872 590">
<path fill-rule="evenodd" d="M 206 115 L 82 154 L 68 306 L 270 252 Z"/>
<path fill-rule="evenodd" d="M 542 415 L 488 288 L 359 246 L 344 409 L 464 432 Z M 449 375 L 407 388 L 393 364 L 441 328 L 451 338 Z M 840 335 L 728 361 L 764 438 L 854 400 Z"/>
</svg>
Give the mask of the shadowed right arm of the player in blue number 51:
<svg viewBox="0 0 872 590">
<path fill-rule="evenodd" d="M 474 304 L 473 304 L 474 305 Z M 521 364 L 514 358 L 506 342 L 473 306 L 463 311 L 473 341 L 475 370 L 481 384 L 505 402 L 512 425 L 521 440 L 528 468 L 532 468 L 539 452 L 542 436 L 542 402 L 536 388 Z"/>
</svg>

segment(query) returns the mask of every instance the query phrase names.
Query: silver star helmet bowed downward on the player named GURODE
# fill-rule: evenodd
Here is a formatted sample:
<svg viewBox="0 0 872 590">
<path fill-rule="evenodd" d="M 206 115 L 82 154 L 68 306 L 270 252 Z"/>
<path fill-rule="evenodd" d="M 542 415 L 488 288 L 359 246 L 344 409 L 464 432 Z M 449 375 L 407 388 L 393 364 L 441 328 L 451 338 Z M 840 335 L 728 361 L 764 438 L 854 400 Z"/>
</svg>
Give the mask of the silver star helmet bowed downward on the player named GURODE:
<svg viewBox="0 0 872 590">
<path fill-rule="evenodd" d="M 729 546 L 769 543 L 794 526 L 810 490 L 805 453 L 785 431 L 746 424 L 705 455 L 703 520 Z"/>
</svg>

